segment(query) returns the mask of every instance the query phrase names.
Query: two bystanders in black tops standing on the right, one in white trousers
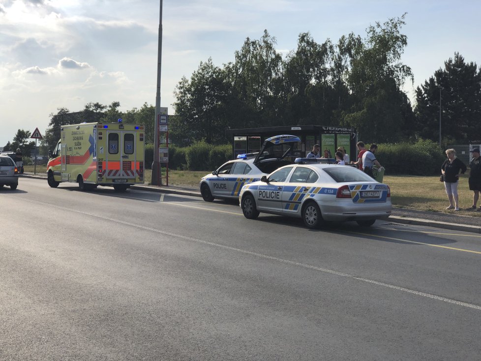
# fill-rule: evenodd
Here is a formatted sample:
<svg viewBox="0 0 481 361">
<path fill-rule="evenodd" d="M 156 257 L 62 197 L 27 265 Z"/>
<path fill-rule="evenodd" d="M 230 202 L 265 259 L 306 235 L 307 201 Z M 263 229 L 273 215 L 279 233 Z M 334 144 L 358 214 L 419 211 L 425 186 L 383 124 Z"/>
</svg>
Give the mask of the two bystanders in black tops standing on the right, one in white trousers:
<svg viewBox="0 0 481 361">
<path fill-rule="evenodd" d="M 480 149 L 475 148 L 470 151 L 473 154 L 473 159 L 469 163 L 469 189 L 473 191 L 473 205 L 468 210 L 481 211 L 481 206 L 477 208 L 478 200 L 480 198 L 481 191 L 481 164 L 480 164 Z M 459 196 L 457 193 L 457 186 L 459 175 L 466 172 L 466 164 L 456 157 L 456 151 L 454 149 L 447 149 L 446 155 L 448 158 L 441 166 L 441 178 L 444 181 L 444 187 L 446 194 L 448 195 L 449 206 L 447 210 L 459 211 Z"/>
</svg>

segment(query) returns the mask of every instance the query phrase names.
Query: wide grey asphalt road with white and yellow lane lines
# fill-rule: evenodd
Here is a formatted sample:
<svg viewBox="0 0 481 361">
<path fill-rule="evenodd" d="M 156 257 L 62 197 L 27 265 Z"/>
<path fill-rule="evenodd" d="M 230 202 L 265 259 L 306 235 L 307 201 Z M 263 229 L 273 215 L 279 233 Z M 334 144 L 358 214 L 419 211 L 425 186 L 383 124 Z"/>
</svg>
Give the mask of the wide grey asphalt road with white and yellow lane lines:
<svg viewBox="0 0 481 361">
<path fill-rule="evenodd" d="M 480 360 L 481 236 L 0 189 L 0 360 Z"/>
</svg>

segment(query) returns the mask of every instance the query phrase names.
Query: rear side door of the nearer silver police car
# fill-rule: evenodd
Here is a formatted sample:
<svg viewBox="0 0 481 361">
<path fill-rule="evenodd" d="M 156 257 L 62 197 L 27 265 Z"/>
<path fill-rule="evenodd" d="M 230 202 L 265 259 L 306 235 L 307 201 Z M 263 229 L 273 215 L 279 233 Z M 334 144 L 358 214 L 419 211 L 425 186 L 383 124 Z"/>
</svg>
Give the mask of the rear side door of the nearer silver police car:
<svg viewBox="0 0 481 361">
<path fill-rule="evenodd" d="M 288 213 L 297 213 L 302 200 L 308 196 L 313 184 L 318 179 L 319 176 L 314 170 L 297 166 L 282 189 L 282 210 Z"/>
</svg>

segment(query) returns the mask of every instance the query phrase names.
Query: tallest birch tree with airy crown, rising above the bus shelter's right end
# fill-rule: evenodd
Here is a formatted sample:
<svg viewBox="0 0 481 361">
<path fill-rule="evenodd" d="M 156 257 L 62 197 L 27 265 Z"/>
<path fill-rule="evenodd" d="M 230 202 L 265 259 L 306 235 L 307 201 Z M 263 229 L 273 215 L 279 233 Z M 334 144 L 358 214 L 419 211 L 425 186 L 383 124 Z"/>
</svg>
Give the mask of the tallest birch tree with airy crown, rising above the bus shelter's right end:
<svg viewBox="0 0 481 361">
<path fill-rule="evenodd" d="M 400 61 L 407 45 L 400 32 L 405 15 L 370 26 L 352 53 L 347 84 L 353 105 L 340 122 L 357 127 L 365 142 L 397 141 L 402 133 L 409 100 L 400 87 L 406 78 L 413 81 L 411 68 Z"/>
</svg>

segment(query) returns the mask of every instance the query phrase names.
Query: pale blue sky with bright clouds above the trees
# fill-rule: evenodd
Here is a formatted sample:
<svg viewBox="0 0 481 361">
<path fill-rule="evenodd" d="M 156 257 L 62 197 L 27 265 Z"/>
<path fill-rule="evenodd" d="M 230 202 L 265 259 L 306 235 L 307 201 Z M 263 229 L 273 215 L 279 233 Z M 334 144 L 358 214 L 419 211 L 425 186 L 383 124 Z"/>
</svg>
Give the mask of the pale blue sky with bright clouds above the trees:
<svg viewBox="0 0 481 361">
<path fill-rule="evenodd" d="M 45 134 L 58 108 L 155 105 L 159 10 L 160 0 L 0 0 L 0 147 L 18 129 Z M 455 52 L 481 65 L 479 0 L 163 0 L 161 106 L 174 114 L 182 76 L 234 61 L 264 30 L 285 57 L 302 32 L 335 43 L 404 13 L 411 99 Z"/>
</svg>

